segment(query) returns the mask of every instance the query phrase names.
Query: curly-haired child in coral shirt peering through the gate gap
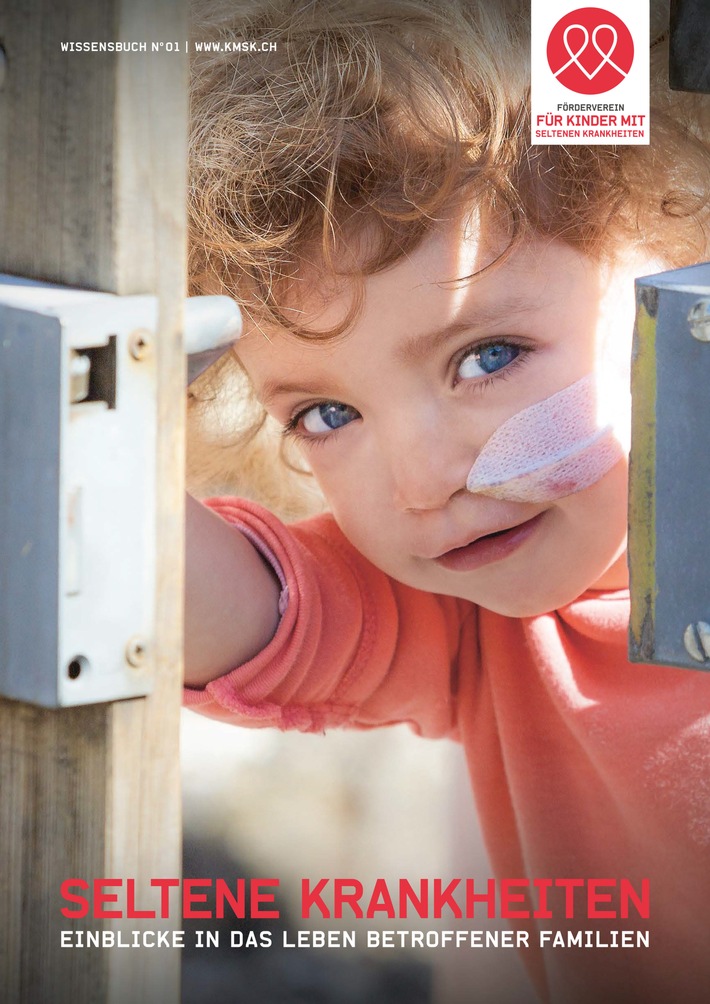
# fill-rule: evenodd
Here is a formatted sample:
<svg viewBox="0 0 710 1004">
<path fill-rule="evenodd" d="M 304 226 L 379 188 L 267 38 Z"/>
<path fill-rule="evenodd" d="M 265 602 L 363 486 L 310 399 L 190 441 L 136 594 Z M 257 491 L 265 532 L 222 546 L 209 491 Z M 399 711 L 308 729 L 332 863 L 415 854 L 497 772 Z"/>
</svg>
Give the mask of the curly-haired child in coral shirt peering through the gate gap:
<svg viewBox="0 0 710 1004">
<path fill-rule="evenodd" d="M 206 17 L 277 47 L 196 66 L 194 286 L 330 513 L 189 500 L 187 704 L 458 738 L 541 997 L 705 1000 L 710 679 L 627 661 L 625 429 L 633 279 L 706 255 L 702 99 L 661 67 L 651 148 L 531 147 L 516 5 Z"/>
</svg>

